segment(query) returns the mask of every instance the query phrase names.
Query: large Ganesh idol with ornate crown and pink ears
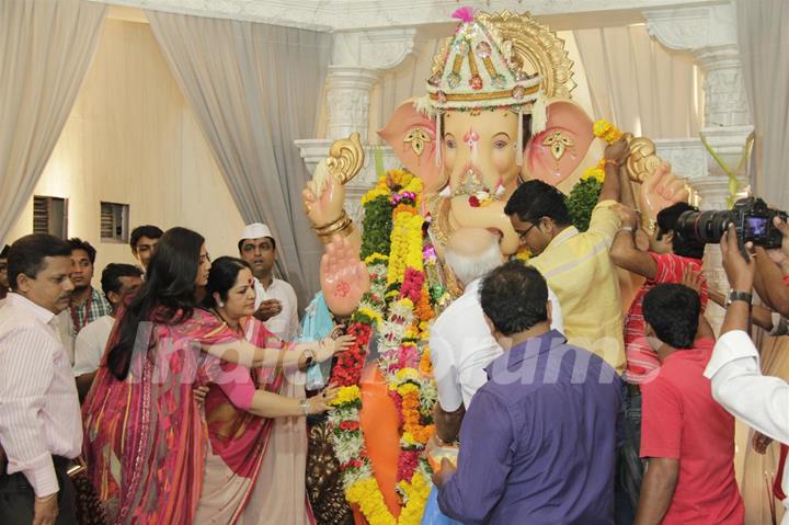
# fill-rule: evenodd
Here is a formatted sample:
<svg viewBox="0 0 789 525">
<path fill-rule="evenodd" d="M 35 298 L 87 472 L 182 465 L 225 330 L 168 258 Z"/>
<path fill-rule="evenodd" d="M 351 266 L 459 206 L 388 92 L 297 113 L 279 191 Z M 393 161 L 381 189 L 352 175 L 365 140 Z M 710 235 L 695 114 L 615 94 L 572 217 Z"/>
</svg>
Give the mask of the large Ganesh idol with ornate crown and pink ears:
<svg viewBox="0 0 789 525">
<path fill-rule="evenodd" d="M 413 205 L 425 224 L 430 289 L 449 288 L 442 256 L 453 235 L 488 229 L 500 236 L 504 256 L 515 255 L 519 240 L 504 207 L 517 185 L 540 179 L 569 193 L 606 147 L 595 136 L 595 122 L 571 99 L 572 62 L 553 32 L 528 13 L 461 9 L 454 16 L 459 24 L 434 57 L 425 95 L 403 102 L 379 132 L 420 181 Z M 643 216 L 654 219 L 664 207 L 686 201 L 685 184 L 656 157 L 654 145 L 627 138 L 627 170 Z M 307 214 L 327 248 L 323 298 L 339 319 L 350 318 L 370 290 L 369 264 L 359 258 L 361 225 L 343 209 L 343 184 L 362 168 L 363 151 L 357 137 L 335 142 L 304 191 Z M 400 198 L 399 186 L 390 186 Z M 428 261 L 432 254 L 435 261 Z M 431 264 L 436 272 L 428 272 Z M 447 296 L 451 299 L 448 293 L 443 300 Z M 402 416 L 392 415 L 388 387 L 376 374 L 365 372 L 359 387 L 366 454 L 386 504 L 380 512 L 397 518 L 408 505 L 396 487 L 398 457 L 386 449 L 398 448 Z M 375 522 L 362 511 L 355 505 L 356 523 Z"/>
</svg>

